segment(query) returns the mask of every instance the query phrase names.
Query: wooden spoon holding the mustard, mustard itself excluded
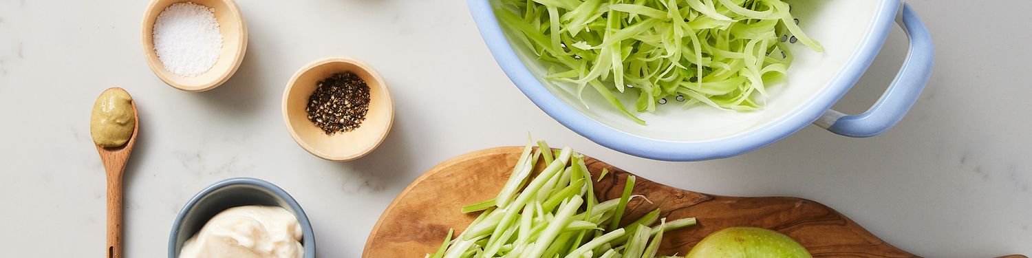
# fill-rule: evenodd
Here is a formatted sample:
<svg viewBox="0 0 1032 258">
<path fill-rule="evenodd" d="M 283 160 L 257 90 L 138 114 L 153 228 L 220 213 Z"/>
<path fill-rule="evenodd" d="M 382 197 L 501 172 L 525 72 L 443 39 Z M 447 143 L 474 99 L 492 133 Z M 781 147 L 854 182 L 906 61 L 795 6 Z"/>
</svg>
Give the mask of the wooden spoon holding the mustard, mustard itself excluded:
<svg viewBox="0 0 1032 258">
<path fill-rule="evenodd" d="M 125 91 L 125 89 L 118 87 L 107 90 Z M 132 154 L 132 148 L 136 144 L 136 136 L 139 135 L 139 111 L 136 110 L 136 101 L 133 100 L 131 103 L 136 126 L 133 127 L 129 141 L 117 148 L 104 148 L 94 143 L 97 152 L 100 153 L 100 161 L 104 163 L 104 171 L 107 174 L 107 258 L 123 257 L 122 175 L 125 172 L 126 163 L 129 161 L 129 155 Z"/>
</svg>

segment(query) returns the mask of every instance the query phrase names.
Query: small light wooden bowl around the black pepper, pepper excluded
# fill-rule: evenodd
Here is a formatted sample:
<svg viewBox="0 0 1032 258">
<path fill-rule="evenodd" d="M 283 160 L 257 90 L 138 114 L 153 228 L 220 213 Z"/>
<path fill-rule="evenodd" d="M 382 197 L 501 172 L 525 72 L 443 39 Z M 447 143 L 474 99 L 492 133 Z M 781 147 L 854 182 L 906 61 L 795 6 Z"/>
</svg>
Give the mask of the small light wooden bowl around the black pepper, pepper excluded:
<svg viewBox="0 0 1032 258">
<path fill-rule="evenodd" d="M 319 80 L 347 71 L 369 86 L 369 110 L 357 129 L 328 135 L 309 121 L 304 107 Z M 372 67 L 356 60 L 328 58 L 301 67 L 290 78 L 283 91 L 283 120 L 290 135 L 304 151 L 327 160 L 350 161 L 373 152 L 387 137 L 394 123 L 394 102 L 387 84 Z"/>
</svg>

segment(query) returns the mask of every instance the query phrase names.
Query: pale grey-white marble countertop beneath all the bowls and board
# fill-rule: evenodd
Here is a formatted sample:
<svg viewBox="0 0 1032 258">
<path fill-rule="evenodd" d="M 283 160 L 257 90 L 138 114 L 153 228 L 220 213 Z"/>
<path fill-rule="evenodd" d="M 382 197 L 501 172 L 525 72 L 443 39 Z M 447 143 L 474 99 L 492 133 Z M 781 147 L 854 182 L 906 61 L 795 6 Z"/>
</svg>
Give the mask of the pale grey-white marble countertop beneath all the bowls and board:
<svg viewBox="0 0 1032 258">
<path fill-rule="evenodd" d="M 103 254 L 105 180 L 89 109 L 121 86 L 141 122 L 126 171 L 128 257 L 164 257 L 183 204 L 234 176 L 290 192 L 320 256 L 358 257 L 381 212 L 422 171 L 520 144 L 527 131 L 679 188 L 813 199 L 922 256 L 1032 254 L 1032 1 L 910 2 L 938 55 L 927 91 L 895 129 L 854 139 L 811 126 L 740 157 L 670 163 L 600 147 L 538 109 L 494 63 L 461 0 L 239 0 L 247 58 L 204 93 L 168 87 L 148 68 L 148 1 L 0 0 L 0 247 L 7 257 Z M 896 29 L 838 108 L 873 103 L 905 50 Z M 367 62 L 393 93 L 393 131 L 358 161 L 320 160 L 283 125 L 287 80 L 327 56 Z"/>
</svg>

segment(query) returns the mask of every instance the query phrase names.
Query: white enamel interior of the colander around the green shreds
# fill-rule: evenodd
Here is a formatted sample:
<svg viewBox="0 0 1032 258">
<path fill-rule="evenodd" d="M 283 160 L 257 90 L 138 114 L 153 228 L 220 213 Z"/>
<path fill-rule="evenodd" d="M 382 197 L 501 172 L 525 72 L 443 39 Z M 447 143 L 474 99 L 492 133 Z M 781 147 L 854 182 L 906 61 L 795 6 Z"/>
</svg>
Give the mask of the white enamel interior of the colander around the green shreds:
<svg viewBox="0 0 1032 258">
<path fill-rule="evenodd" d="M 523 44 L 513 43 L 516 55 L 549 91 L 574 109 L 613 129 L 645 138 L 678 142 L 700 142 L 734 137 L 778 121 L 813 99 L 843 69 L 857 53 L 867 32 L 874 25 L 875 13 L 883 1 L 876 0 L 786 0 L 800 27 L 825 46 L 815 53 L 802 43 L 792 43 L 796 56 L 788 69 L 786 83 L 768 86 L 769 97 L 763 110 L 735 112 L 697 105 L 683 108 L 681 102 L 668 99 L 654 114 L 634 112 L 645 120 L 640 125 L 623 117 L 590 87 L 584 90 L 583 101 L 576 97 L 576 88 L 543 78 L 547 66 Z M 497 1 L 491 1 L 497 6 Z M 505 27 L 503 27 L 505 28 Z M 511 33 L 506 31 L 505 33 Z M 779 35 L 780 36 L 780 35 Z M 792 35 L 787 35 L 792 36 Z M 507 35 L 507 38 L 514 38 Z M 632 96 L 634 95 L 634 96 Z M 637 94 L 618 94 L 628 108 Z"/>
</svg>

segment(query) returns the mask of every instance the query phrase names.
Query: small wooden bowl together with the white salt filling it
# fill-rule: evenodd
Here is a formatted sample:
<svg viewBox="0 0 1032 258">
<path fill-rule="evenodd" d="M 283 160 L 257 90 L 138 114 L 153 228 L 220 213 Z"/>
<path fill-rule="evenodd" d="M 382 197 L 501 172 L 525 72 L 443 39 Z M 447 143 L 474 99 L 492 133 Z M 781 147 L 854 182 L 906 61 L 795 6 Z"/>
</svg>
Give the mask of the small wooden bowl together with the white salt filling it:
<svg viewBox="0 0 1032 258">
<path fill-rule="evenodd" d="M 247 23 L 233 0 L 153 0 L 140 36 L 154 74 L 189 92 L 226 83 L 248 49 Z"/>
</svg>

